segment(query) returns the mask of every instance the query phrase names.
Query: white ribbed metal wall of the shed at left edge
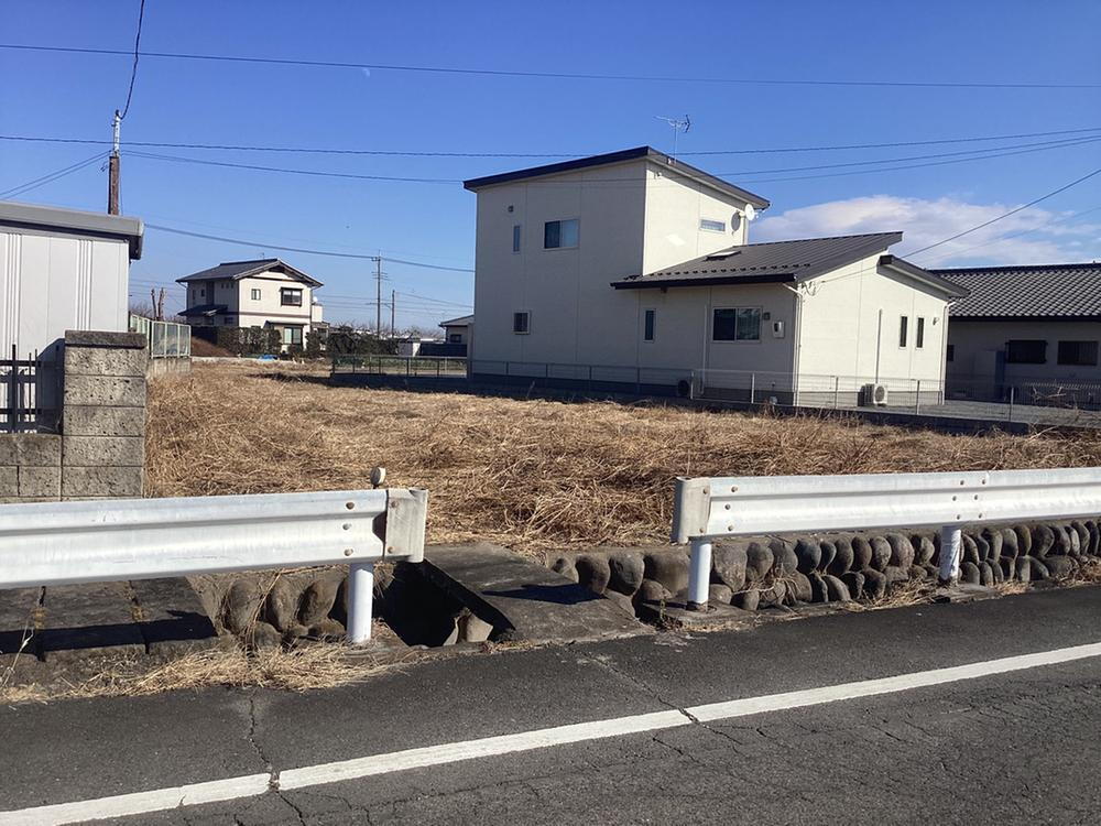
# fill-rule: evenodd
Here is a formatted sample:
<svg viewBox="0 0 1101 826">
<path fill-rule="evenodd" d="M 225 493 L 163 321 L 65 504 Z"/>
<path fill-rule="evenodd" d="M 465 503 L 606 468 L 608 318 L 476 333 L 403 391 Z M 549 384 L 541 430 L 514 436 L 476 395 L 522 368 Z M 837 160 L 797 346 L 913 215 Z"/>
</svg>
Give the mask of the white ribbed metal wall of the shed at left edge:
<svg viewBox="0 0 1101 826">
<path fill-rule="evenodd" d="M 47 355 L 66 329 L 124 333 L 127 241 L 0 229 L 0 352 Z"/>
</svg>

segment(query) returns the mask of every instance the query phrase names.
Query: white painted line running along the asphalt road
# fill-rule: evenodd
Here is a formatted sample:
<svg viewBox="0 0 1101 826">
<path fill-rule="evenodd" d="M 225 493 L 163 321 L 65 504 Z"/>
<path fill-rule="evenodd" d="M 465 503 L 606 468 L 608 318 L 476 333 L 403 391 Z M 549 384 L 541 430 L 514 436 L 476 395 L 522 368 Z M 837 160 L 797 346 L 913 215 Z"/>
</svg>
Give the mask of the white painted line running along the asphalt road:
<svg viewBox="0 0 1101 826">
<path fill-rule="evenodd" d="M 340 760 L 333 763 L 303 767 L 301 769 L 287 769 L 279 775 L 279 787 L 281 790 L 306 789 L 326 783 L 337 783 L 344 780 L 390 774 L 407 769 L 442 765 L 476 758 L 531 751 L 550 746 L 565 746 L 573 742 L 600 740 L 644 731 L 659 731 L 678 726 L 690 726 L 694 720 L 709 722 L 754 714 L 765 714 L 767 711 L 782 711 L 788 708 L 816 706 L 843 699 L 871 697 L 879 694 L 894 694 L 914 688 L 958 683 L 963 680 L 975 680 L 978 677 L 1006 674 L 1014 671 L 1038 669 L 1044 665 L 1058 665 L 1059 663 L 1069 663 L 1094 656 L 1101 656 L 1101 643 L 1042 651 L 1020 656 L 1006 656 L 1001 660 L 988 660 L 970 665 L 919 671 L 911 674 L 900 674 L 894 677 L 883 677 L 881 680 L 864 680 L 858 683 L 843 683 L 841 685 L 808 688 L 800 692 L 770 694 L 763 697 L 746 697 L 724 703 L 708 703 L 700 706 L 690 706 L 683 710 L 654 711 L 651 714 L 632 715 L 630 717 L 617 717 L 610 720 L 595 720 L 592 722 L 577 722 L 569 726 L 522 731 L 515 735 L 486 737 L 479 740 L 465 740 L 418 749 L 406 749 L 404 751 L 393 751 L 388 754 L 372 754 L 371 757 Z M 106 817 L 148 814 L 150 812 L 161 812 L 181 806 L 195 806 L 201 803 L 216 803 L 238 797 L 251 797 L 269 791 L 269 783 L 270 778 L 266 774 L 249 774 L 241 778 L 193 783 L 150 792 L 120 794 L 92 801 L 77 801 L 75 803 L 59 803 L 48 806 L 0 812 L 0 826 L 14 826 L 14 824 L 20 824 L 20 826 L 45 826 L 45 824 L 80 823 Z"/>
</svg>

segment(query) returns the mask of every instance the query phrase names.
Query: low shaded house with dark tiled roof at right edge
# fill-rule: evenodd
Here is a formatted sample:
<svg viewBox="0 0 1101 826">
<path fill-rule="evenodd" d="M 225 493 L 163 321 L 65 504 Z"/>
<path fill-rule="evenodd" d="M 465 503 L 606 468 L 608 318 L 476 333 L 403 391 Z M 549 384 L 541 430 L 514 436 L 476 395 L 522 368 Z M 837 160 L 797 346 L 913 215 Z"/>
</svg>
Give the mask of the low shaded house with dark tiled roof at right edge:
<svg viewBox="0 0 1101 826">
<path fill-rule="evenodd" d="M 935 272 L 971 293 L 950 311 L 952 395 L 1101 402 L 1101 263 Z"/>
</svg>

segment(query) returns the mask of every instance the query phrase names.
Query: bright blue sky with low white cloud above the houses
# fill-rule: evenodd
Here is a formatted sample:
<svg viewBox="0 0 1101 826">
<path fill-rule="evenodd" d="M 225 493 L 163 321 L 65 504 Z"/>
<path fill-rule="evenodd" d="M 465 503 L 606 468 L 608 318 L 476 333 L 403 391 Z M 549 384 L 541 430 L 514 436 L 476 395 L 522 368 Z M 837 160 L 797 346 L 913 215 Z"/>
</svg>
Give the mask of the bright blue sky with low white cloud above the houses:
<svg viewBox="0 0 1101 826">
<path fill-rule="evenodd" d="M 4 43 L 129 50 L 138 0 L 6 0 L 3 12 Z M 663 77 L 1099 84 L 1099 31 L 1095 0 L 559 0 L 550 6 L 146 0 L 142 50 Z M 0 50 L 0 134 L 107 140 L 111 113 L 126 99 L 130 59 Z M 1101 89 L 532 78 L 143 57 L 123 141 L 585 155 L 645 143 L 668 151 L 672 131 L 655 116 L 685 113 L 693 128 L 680 138 L 683 153 L 1089 128 L 1099 128 L 1094 134 L 1101 137 Z M 752 229 L 754 240 L 902 229 L 906 237 L 895 251 L 905 254 L 1101 166 L 1101 142 L 868 174 L 836 174 L 853 167 L 762 171 L 981 148 L 1036 150 L 1022 144 L 1080 137 L 1089 134 L 684 159 L 772 200 Z M 0 192 L 97 150 L 0 141 Z M 144 151 L 445 180 L 555 160 Z M 883 165 L 916 163 L 929 161 Z M 94 163 L 18 197 L 102 209 L 106 172 Z M 122 205 L 149 224 L 259 242 L 236 246 L 150 229 L 145 256 L 132 269 L 135 292 L 219 261 L 275 252 L 264 243 L 381 250 L 445 267 L 473 263 L 475 196 L 456 183 L 276 174 L 145 159 L 124 149 Z M 1101 176 L 915 260 L 929 267 L 1092 260 L 1101 257 L 1101 209 L 1088 211 L 1097 207 Z M 326 283 L 321 295 L 333 296 L 326 301 L 330 319 L 373 319 L 370 262 L 277 254 Z M 471 274 L 393 262 L 385 270 L 385 289 L 403 294 L 399 326 L 432 327 L 472 301 Z M 412 295 L 423 297 L 406 297 Z"/>
</svg>

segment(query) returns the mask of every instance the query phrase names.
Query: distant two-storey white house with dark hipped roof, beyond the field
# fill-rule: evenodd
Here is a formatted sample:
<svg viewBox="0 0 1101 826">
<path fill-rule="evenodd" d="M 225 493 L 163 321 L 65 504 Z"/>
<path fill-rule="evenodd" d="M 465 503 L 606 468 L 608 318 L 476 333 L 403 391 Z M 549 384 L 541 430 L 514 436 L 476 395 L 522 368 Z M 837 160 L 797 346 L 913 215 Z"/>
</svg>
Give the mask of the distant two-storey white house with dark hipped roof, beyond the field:
<svg viewBox="0 0 1101 826">
<path fill-rule="evenodd" d="M 187 287 L 181 315 L 193 326 L 273 327 L 284 349 L 324 326 L 314 295 L 321 282 L 277 258 L 226 261 L 176 281 Z"/>
</svg>

